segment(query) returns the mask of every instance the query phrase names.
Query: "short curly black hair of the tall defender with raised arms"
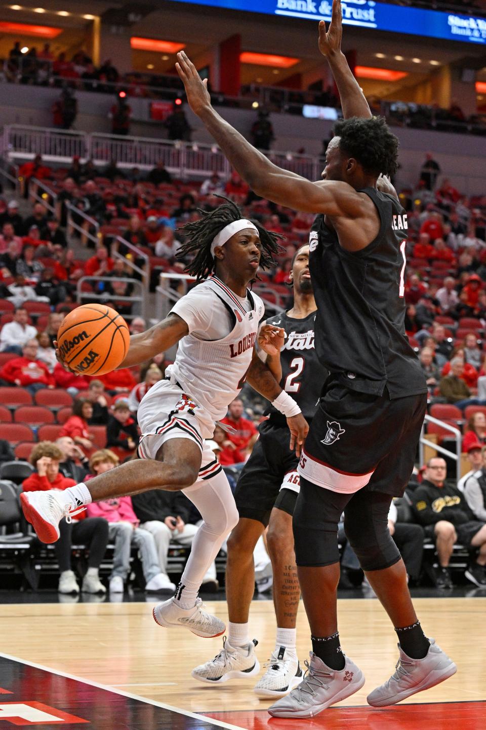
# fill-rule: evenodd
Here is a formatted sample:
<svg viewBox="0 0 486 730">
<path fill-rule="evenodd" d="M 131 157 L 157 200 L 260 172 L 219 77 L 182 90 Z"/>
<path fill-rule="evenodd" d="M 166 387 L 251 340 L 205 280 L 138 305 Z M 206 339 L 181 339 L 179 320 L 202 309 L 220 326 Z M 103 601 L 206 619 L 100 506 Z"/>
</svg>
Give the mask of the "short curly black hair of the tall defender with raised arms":
<svg viewBox="0 0 486 730">
<path fill-rule="evenodd" d="M 383 117 L 342 120 L 334 125 L 334 134 L 340 137 L 340 149 L 354 157 L 367 174 L 396 173 L 399 140 Z"/>
</svg>

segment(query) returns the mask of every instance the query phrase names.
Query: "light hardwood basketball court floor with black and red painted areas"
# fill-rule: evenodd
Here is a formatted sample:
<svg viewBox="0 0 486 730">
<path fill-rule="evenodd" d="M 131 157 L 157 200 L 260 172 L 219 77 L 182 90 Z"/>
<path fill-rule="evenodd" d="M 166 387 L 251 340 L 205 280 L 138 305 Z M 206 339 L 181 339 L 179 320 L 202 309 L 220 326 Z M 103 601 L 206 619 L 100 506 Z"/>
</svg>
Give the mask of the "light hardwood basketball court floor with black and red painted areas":
<svg viewBox="0 0 486 730">
<path fill-rule="evenodd" d="M 207 605 L 227 620 L 224 602 Z M 396 707 L 369 707 L 368 692 L 393 672 L 396 637 L 377 600 L 340 599 L 343 650 L 363 669 L 367 683 L 317 718 L 292 721 L 270 718 L 266 708 L 271 702 L 254 695 L 254 678 L 214 687 L 193 680 L 193 667 L 215 656 L 222 639 L 162 629 L 152 619 L 152 601 L 3 604 L 0 728 L 12 723 L 44 727 L 90 723 L 97 730 L 218 726 L 484 730 L 486 591 L 474 598 L 415 599 L 415 605 L 426 634 L 436 638 L 458 665 L 454 677 Z M 275 636 L 270 601 L 253 602 L 250 626 L 251 635 L 259 640 L 256 652 L 263 665 Z M 308 656 L 309 634 L 301 604 L 297 648 L 302 662 Z M 17 705 L 20 716 L 13 718 Z"/>
</svg>

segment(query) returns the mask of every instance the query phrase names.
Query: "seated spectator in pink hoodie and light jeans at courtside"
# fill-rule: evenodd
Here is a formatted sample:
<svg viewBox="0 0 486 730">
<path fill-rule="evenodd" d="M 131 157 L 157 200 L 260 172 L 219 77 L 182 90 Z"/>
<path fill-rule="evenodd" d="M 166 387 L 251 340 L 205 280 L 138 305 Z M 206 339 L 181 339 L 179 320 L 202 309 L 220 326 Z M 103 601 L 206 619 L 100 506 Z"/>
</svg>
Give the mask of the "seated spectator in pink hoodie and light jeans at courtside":
<svg viewBox="0 0 486 730">
<path fill-rule="evenodd" d="M 95 451 L 90 458 L 93 476 L 109 472 L 119 463 L 118 457 L 108 449 Z M 89 477 L 88 477 L 89 478 Z M 110 593 L 123 593 L 124 583 L 130 570 L 130 550 L 136 545 L 141 558 L 146 591 L 174 591 L 176 586 L 162 572 L 157 558 L 154 537 L 149 531 L 141 529 L 139 520 L 133 512 L 130 497 L 108 499 L 106 502 L 92 502 L 87 505 L 90 518 L 103 518 L 108 521 L 109 539 L 114 540 L 113 569 L 111 570 Z"/>
</svg>

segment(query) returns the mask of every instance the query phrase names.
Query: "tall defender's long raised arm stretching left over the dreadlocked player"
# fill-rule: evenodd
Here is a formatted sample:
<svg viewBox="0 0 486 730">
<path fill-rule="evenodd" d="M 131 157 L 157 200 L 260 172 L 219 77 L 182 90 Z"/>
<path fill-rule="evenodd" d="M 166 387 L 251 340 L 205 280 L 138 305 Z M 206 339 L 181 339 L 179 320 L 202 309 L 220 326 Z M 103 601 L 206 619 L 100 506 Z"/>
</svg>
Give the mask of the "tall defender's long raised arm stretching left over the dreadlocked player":
<svg viewBox="0 0 486 730">
<path fill-rule="evenodd" d="M 331 217 L 361 218 L 363 196 L 354 188 L 335 180 L 310 183 L 305 177 L 274 165 L 213 110 L 207 82 L 200 79 L 195 65 L 184 51 L 178 53 L 177 58 L 176 69 L 184 82 L 189 106 L 216 139 L 230 164 L 257 195 L 293 210 L 326 213 Z"/>
</svg>

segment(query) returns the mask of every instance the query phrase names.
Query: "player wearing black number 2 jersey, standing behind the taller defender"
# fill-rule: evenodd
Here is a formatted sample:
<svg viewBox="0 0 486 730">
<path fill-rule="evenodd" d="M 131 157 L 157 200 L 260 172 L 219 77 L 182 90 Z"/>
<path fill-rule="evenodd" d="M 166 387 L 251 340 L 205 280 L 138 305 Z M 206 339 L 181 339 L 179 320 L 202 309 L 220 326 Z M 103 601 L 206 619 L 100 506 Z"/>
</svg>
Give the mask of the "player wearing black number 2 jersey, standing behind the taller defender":
<svg viewBox="0 0 486 730">
<path fill-rule="evenodd" d="M 294 255 L 290 272 L 294 305 L 288 312 L 268 318 L 266 323 L 281 328 L 285 339 L 280 351 L 266 355 L 265 361 L 281 388 L 299 404 L 311 423 L 326 377 L 315 356 L 315 301 L 309 272 L 309 245 Z M 260 437 L 243 467 L 235 491 L 240 519 L 228 540 L 226 596 L 228 636 L 222 651 L 197 666 L 192 677 L 206 683 L 254 677 L 259 662 L 248 633 L 248 615 L 254 594 L 254 548 L 268 525 L 267 547 L 273 567 L 273 602 L 277 618 L 275 650 L 267 672 L 256 683 L 258 696 L 281 697 L 302 681 L 296 650 L 296 621 L 300 588 L 294 556 L 292 515 L 299 493 L 298 458 L 289 449 L 289 429 L 285 418 L 270 407 L 260 426 Z"/>
</svg>

